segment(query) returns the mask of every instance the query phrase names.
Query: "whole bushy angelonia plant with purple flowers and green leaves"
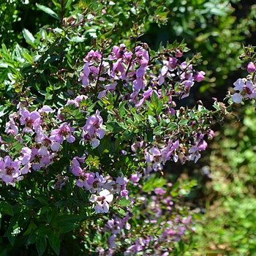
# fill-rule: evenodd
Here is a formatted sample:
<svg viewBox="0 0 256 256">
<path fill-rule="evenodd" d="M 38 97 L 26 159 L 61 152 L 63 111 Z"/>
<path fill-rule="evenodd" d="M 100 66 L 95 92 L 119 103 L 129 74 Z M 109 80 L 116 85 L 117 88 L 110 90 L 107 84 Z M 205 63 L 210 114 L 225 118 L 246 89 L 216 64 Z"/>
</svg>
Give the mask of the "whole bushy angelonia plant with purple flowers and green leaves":
<svg viewBox="0 0 256 256">
<path fill-rule="evenodd" d="M 196 184 L 168 183 L 165 163 L 197 162 L 214 137 L 212 118 L 255 98 L 254 55 L 246 48 L 252 75 L 234 83 L 228 107 L 187 108 L 182 100 L 205 75 L 199 53 L 186 59 L 184 42 L 151 50 L 137 24 L 124 43 L 102 37 L 83 48 L 78 31 L 89 19 L 42 28 L 30 51 L 2 45 L 12 102 L 2 110 L 1 244 L 9 243 L 0 252 L 26 244 L 59 255 L 72 234 L 84 255 L 178 255 L 193 229 L 179 202 Z"/>
</svg>

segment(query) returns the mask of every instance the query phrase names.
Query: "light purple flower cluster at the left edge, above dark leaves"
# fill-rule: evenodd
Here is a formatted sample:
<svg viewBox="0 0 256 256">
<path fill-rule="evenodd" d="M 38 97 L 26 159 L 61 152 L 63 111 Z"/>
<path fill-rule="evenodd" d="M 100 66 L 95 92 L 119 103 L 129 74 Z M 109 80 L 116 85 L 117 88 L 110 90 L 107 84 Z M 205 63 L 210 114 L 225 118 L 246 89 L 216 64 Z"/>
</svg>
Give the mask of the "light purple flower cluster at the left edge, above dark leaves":
<svg viewBox="0 0 256 256">
<path fill-rule="evenodd" d="M 75 103 L 67 102 L 67 105 L 74 104 L 79 107 L 78 102 L 82 99 L 77 97 Z M 67 140 L 68 143 L 75 142 L 75 128 L 67 121 L 56 122 L 54 116 L 49 115 L 49 113 L 54 112 L 47 105 L 30 112 L 29 109 L 19 104 L 18 111 L 10 115 L 10 121 L 6 124 L 5 132 L 14 136 L 15 140 L 18 140 L 23 147 L 20 150 L 18 160 L 12 162 L 10 157 L 0 159 L 0 165 L 3 166 L 0 169 L 0 176 L 7 184 L 15 186 L 15 182 L 23 179 L 23 174 L 31 172 L 31 168 L 33 170 L 45 170 L 58 156 L 64 140 Z M 58 110 L 58 116 L 60 121 L 63 120 L 61 109 Z M 78 139 L 84 143 L 90 142 L 94 148 L 99 146 L 99 139 L 105 135 L 99 110 L 96 111 L 95 116 L 89 116 L 84 127 L 77 129 L 80 134 Z M 23 140 L 25 136 L 27 139 L 29 138 L 30 146 L 26 146 L 28 141 Z M 8 169 L 7 166 L 12 167 Z"/>
</svg>

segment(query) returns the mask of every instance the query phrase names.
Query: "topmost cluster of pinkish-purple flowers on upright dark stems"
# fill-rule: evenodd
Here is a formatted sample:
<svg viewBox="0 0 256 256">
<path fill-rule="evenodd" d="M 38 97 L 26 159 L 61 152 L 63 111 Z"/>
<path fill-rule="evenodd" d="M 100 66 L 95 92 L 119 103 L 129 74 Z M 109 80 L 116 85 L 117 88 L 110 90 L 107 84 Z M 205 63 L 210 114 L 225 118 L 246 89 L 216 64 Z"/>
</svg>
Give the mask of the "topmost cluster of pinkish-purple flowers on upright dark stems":
<svg viewBox="0 0 256 256">
<path fill-rule="evenodd" d="M 173 53 L 174 54 L 174 53 Z M 181 57 L 182 54 L 178 55 Z M 123 94 L 123 99 L 137 106 L 142 105 L 141 101 L 151 97 L 152 89 L 162 86 L 165 81 L 169 83 L 171 94 L 182 98 L 189 96 L 190 88 L 195 81 L 203 80 L 205 72 L 197 72 L 192 64 L 180 62 L 175 56 L 162 60 L 162 69 L 159 75 L 155 75 L 151 67 L 148 66 L 149 54 L 148 45 L 136 46 L 134 51 L 127 51 L 124 44 L 113 46 L 112 52 L 104 56 L 103 52 L 91 50 L 84 59 L 85 64 L 80 72 L 79 81 L 87 90 L 99 91 L 98 98 L 106 96 L 108 91 L 113 93 L 118 86 L 118 94 Z M 167 79 L 166 79 L 167 78 Z M 150 83 L 148 84 L 148 81 Z M 174 84 L 178 82 L 178 89 L 174 89 Z"/>
</svg>

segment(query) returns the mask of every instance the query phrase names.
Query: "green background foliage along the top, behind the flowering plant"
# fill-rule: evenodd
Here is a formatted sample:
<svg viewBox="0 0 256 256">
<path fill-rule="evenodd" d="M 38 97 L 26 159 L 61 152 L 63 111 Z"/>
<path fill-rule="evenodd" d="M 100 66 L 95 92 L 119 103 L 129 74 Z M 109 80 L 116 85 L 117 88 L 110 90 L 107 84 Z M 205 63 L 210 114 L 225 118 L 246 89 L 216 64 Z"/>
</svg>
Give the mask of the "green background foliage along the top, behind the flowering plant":
<svg viewBox="0 0 256 256">
<path fill-rule="evenodd" d="M 61 0 L 40 1 L 39 5 L 50 8 L 51 15 L 42 12 L 34 1 L 8 0 L 2 5 L 0 17 L 4 23 L 1 23 L 0 39 L 4 39 L 7 48 L 13 42 L 26 46 L 23 39 L 26 30 L 36 34 L 42 26 L 59 26 L 63 18 L 71 18 L 80 10 L 86 12 L 89 9 L 98 15 L 94 20 L 99 22 L 98 26 L 94 26 L 97 31 L 91 31 L 91 34 L 95 36 L 96 33 L 99 38 L 107 33 L 108 39 L 116 45 L 125 43 L 135 22 L 146 33 L 141 40 L 154 50 L 160 42 L 165 45 L 167 41 L 177 39 L 181 42 L 185 39 L 192 53 L 200 52 L 204 56 L 203 69 L 207 72 L 207 79 L 200 86 L 200 92 L 205 94 L 208 91 L 213 93 L 216 86 L 232 83 L 234 78 L 231 76 L 237 78 L 237 58 L 242 52 L 242 44 L 255 33 L 255 5 L 241 4 L 238 0 Z"/>
</svg>

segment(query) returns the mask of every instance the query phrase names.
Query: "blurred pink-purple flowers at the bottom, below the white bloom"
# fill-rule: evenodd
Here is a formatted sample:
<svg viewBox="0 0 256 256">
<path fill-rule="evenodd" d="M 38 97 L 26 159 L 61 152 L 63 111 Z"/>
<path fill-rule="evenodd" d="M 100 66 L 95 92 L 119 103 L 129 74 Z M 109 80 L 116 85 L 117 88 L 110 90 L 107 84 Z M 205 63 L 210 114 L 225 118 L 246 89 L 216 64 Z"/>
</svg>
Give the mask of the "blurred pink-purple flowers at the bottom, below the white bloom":
<svg viewBox="0 0 256 256">
<path fill-rule="evenodd" d="M 172 184 L 168 184 L 172 187 Z M 170 215 L 174 208 L 172 197 L 167 195 L 167 190 L 164 188 L 155 188 L 154 195 L 148 200 L 146 197 L 140 197 L 138 200 L 143 202 L 143 211 L 145 212 L 143 230 L 149 224 L 155 224 L 162 216 Z M 127 241 L 128 238 L 133 238 L 132 243 L 127 246 L 124 255 L 136 255 L 138 252 L 144 252 L 146 255 L 169 255 L 173 250 L 170 246 L 173 241 L 181 241 L 185 231 L 192 225 L 192 217 L 176 217 L 171 220 L 163 220 L 159 223 L 157 235 L 148 234 L 146 237 L 140 237 L 135 233 L 127 233 L 126 230 L 131 230 L 131 225 L 128 220 L 131 215 L 127 214 L 124 218 L 119 218 L 113 215 L 113 218 L 105 222 L 102 229 L 103 233 L 110 233 L 108 238 L 108 249 L 101 250 L 102 255 L 114 255 L 118 251 L 118 247 L 122 246 L 122 241 Z M 160 231 L 161 230 L 161 231 Z"/>
</svg>

